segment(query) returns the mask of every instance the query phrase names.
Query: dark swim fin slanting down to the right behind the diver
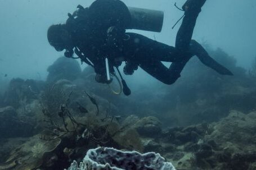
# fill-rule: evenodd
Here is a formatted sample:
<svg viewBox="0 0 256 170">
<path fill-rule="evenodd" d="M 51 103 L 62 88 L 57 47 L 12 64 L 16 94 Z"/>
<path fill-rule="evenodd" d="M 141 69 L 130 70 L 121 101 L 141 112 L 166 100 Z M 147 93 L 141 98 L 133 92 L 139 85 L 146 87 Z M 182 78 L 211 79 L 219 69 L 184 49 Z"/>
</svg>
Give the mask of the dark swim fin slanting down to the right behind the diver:
<svg viewBox="0 0 256 170">
<path fill-rule="evenodd" d="M 191 40 L 190 52 L 196 55 L 205 66 L 212 68 L 221 75 L 233 75 L 233 73 L 230 70 L 228 70 L 226 67 L 222 66 L 212 57 L 210 57 L 209 54 L 204 49 L 204 47 L 202 47 L 202 45 L 197 43 L 195 40 Z"/>
</svg>

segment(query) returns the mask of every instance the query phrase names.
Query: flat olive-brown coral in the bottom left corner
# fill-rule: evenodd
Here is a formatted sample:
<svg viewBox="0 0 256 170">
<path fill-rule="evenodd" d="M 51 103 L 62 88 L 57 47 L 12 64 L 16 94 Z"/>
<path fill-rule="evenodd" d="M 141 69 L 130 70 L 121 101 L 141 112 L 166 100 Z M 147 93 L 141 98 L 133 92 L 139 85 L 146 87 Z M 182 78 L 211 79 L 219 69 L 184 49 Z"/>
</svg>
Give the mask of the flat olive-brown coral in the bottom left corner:
<svg viewBox="0 0 256 170">
<path fill-rule="evenodd" d="M 61 144 L 60 139 L 44 141 L 39 138 L 39 135 L 35 135 L 26 139 L 25 142 L 24 139 L 18 142 L 19 147 L 5 155 L 8 158 L 5 163 L 0 164 L 0 169 L 36 169 L 39 167 L 47 169 L 54 166 L 57 160 L 54 151 Z M 7 143 L 14 144 L 14 141 L 10 140 Z"/>
</svg>

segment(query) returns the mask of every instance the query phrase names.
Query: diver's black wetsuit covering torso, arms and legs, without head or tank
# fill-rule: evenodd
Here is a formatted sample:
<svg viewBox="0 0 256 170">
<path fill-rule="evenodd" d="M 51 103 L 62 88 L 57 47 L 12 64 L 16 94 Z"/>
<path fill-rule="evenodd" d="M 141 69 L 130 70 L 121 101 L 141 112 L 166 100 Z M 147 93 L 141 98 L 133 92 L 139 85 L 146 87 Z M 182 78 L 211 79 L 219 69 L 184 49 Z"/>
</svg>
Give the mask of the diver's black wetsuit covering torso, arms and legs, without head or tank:
<svg viewBox="0 0 256 170">
<path fill-rule="evenodd" d="M 106 74 L 105 58 L 109 58 L 110 71 L 113 66 L 120 66 L 122 61 L 133 66 L 140 66 L 151 76 L 165 84 L 173 84 L 188 60 L 196 55 L 206 66 L 221 74 L 232 75 L 225 67 L 210 58 L 203 47 L 191 40 L 197 15 L 199 12 L 188 12 L 183 18 L 176 37 L 176 47 L 169 46 L 147 38 L 146 36 L 125 33 L 129 27 L 129 11 L 119 0 L 96 0 L 86 8 L 87 18 L 67 21 L 74 37 L 74 44 L 95 67 L 95 72 Z M 71 23 L 71 24 L 70 24 Z M 107 29 L 116 27 L 123 35 L 118 39 L 118 45 L 110 47 L 107 44 Z M 75 30 L 75 31 L 74 31 Z M 170 67 L 161 63 L 172 62 Z"/>
</svg>

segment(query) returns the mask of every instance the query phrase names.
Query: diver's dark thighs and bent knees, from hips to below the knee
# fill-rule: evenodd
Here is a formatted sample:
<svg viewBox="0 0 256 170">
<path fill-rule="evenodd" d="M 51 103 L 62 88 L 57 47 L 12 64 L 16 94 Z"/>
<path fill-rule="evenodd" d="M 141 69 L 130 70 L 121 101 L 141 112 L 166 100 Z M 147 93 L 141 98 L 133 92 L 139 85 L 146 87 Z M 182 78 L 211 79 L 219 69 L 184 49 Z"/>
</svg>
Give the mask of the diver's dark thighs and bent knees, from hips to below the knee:
<svg viewBox="0 0 256 170">
<path fill-rule="evenodd" d="M 133 34 L 131 34 L 132 36 Z M 134 60 L 143 70 L 165 84 L 173 84 L 181 76 L 181 71 L 192 57 L 189 50 L 183 52 L 175 47 L 156 42 L 142 35 L 136 35 L 136 38 L 140 39 L 139 42 L 142 45 L 137 48 Z M 168 68 L 160 61 L 173 63 Z"/>
</svg>

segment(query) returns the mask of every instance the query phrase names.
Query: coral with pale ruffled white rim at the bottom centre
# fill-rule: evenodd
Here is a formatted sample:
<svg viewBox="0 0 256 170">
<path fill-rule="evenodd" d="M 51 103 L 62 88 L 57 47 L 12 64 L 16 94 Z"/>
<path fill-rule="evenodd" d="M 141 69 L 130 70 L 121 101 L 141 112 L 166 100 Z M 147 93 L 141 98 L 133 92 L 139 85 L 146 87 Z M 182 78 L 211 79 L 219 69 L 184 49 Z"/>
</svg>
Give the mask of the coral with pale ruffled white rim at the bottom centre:
<svg viewBox="0 0 256 170">
<path fill-rule="evenodd" d="M 113 148 L 96 148 L 88 150 L 83 162 L 73 162 L 68 170 L 89 169 L 163 169 L 175 170 L 172 163 L 156 153 L 140 154 L 137 151 L 121 151 Z"/>
</svg>

